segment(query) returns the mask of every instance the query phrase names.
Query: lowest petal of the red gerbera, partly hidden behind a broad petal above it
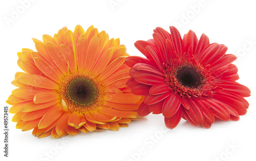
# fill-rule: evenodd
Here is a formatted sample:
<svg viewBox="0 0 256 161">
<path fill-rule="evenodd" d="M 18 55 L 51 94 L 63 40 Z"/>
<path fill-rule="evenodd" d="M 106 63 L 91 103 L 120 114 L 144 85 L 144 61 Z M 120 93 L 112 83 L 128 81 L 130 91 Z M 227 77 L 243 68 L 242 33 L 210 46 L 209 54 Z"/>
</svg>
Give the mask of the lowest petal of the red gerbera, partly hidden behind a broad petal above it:
<svg viewBox="0 0 256 161">
<path fill-rule="evenodd" d="M 182 114 L 183 114 L 182 109 L 179 108 L 179 110 L 176 112 L 174 116 L 169 118 L 165 117 L 164 118 L 165 126 L 169 129 L 175 128 L 179 124 Z"/>
</svg>

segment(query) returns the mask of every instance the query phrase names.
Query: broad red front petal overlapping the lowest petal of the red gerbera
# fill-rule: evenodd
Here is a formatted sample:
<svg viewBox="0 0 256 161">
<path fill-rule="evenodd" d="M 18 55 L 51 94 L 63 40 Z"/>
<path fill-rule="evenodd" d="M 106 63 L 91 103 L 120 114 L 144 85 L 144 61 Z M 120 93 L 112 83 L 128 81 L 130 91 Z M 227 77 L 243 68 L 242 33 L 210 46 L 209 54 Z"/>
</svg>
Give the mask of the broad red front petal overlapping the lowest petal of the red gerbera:
<svg viewBox="0 0 256 161">
<path fill-rule="evenodd" d="M 171 93 L 163 103 L 162 113 L 164 117 L 172 117 L 180 108 L 181 97 L 178 94 Z"/>
</svg>

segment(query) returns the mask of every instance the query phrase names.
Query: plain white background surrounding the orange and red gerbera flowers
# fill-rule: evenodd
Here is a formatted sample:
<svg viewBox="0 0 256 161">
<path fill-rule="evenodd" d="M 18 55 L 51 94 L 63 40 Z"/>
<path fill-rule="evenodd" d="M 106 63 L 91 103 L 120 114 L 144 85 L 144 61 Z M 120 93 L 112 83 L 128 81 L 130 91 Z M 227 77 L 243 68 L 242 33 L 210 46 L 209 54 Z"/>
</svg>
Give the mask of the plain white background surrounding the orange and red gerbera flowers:
<svg viewBox="0 0 256 161">
<path fill-rule="evenodd" d="M 26 9 L 24 1 L 1 1 L 0 5 L 1 160 L 256 160 L 253 1 L 31 0 Z M 17 9 L 19 16 L 11 17 Z M 7 23 L 7 18 L 12 22 Z M 175 25 L 182 36 L 193 30 L 198 37 L 206 34 L 210 43 L 225 44 L 228 53 L 239 53 L 235 63 L 239 68 L 238 82 L 251 89 L 251 97 L 246 98 L 250 103 L 247 114 L 236 122 L 216 121 L 210 129 L 193 127 L 182 120 L 173 130 L 165 128 L 162 115 L 148 115 L 117 132 L 79 133 L 59 140 L 37 139 L 32 130 L 22 132 L 10 121 L 9 157 L 4 157 L 3 107 L 15 89 L 11 85 L 14 74 L 21 71 L 16 64 L 16 52 L 22 48 L 35 50 L 32 37 L 42 40 L 43 34 L 53 36 L 65 25 L 74 31 L 76 24 L 84 30 L 93 24 L 110 38 L 119 37 L 127 52 L 137 56 L 142 54 L 134 42 L 152 38 L 157 26 L 169 31 L 168 26 Z"/>
</svg>

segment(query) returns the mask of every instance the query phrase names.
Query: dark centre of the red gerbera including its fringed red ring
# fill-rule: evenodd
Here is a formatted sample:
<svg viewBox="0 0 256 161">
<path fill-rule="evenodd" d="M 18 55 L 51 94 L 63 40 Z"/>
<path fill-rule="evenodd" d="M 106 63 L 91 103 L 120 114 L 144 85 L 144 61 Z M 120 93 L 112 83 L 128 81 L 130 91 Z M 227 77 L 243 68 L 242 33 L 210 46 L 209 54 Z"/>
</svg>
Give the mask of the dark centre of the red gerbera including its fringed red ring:
<svg viewBox="0 0 256 161">
<path fill-rule="evenodd" d="M 194 57 L 170 59 L 165 64 L 165 83 L 182 97 L 211 96 L 214 77 L 208 67 L 203 67 Z"/>
</svg>

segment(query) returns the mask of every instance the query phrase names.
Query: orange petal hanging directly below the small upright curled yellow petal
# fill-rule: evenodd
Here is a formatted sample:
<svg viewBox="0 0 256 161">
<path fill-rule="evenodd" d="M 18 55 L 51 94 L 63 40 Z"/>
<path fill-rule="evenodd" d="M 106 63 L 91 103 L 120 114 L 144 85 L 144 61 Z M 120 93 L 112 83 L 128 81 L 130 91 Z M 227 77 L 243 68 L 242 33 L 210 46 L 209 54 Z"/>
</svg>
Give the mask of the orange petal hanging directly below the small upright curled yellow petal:
<svg viewBox="0 0 256 161">
<path fill-rule="evenodd" d="M 60 119 L 58 124 L 56 125 L 56 133 L 58 136 L 62 137 L 67 134 L 66 128 L 68 126 L 68 120 L 71 113 L 65 113 Z"/>
</svg>

